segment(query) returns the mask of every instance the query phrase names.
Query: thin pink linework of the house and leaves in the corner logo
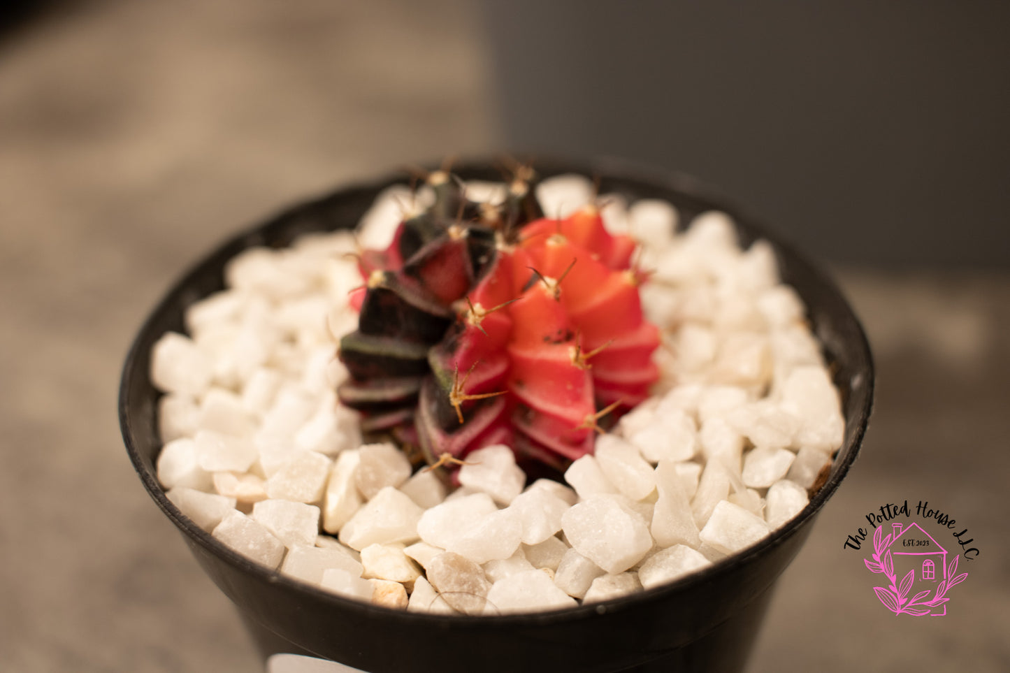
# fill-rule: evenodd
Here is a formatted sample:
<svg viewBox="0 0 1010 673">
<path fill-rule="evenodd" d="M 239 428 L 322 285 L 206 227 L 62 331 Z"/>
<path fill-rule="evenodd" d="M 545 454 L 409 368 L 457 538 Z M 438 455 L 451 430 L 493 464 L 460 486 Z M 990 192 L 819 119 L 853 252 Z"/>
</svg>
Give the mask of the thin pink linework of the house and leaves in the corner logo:
<svg viewBox="0 0 1010 673">
<path fill-rule="evenodd" d="M 929 542 L 934 546 L 933 549 L 928 552 L 892 553 L 891 547 L 913 528 L 928 538 Z M 923 559 L 919 580 L 920 586 L 925 583 L 935 583 L 937 581 L 934 574 L 936 567 L 938 566 L 942 570 L 943 577 L 936 583 L 935 593 L 933 593 L 932 598 L 929 598 L 929 594 L 932 592 L 929 588 L 917 592 L 910 599 L 908 598 L 912 585 L 915 584 L 915 568 L 911 568 L 905 573 L 899 583 L 897 581 L 898 575 L 894 568 L 895 556 L 901 557 L 900 560 L 906 560 L 906 557 L 908 557 L 916 563 L 918 563 L 919 559 Z M 946 614 L 946 602 L 950 600 L 946 597 L 946 592 L 951 587 L 964 582 L 965 578 L 968 577 L 968 573 L 954 575 L 957 572 L 957 558 L 960 555 L 955 555 L 949 564 L 946 563 L 946 556 L 947 551 L 940 547 L 933 540 L 933 537 L 923 531 L 918 523 L 912 523 L 904 527 L 901 523 L 893 523 L 892 533 L 887 536 L 884 536 L 884 526 L 878 526 L 874 533 L 873 561 L 864 559 L 863 563 L 866 564 L 871 572 L 884 573 L 888 580 L 890 580 L 889 586 L 875 586 L 874 592 L 877 594 L 878 600 L 895 614 L 943 616 Z"/>
</svg>

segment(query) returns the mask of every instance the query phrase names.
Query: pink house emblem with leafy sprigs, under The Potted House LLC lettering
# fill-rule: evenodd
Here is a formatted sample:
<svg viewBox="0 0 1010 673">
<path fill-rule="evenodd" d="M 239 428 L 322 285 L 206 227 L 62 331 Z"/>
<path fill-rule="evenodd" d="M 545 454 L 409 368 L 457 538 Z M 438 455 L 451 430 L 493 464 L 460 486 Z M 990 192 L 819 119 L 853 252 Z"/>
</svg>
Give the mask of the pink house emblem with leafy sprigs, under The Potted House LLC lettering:
<svg viewBox="0 0 1010 673">
<path fill-rule="evenodd" d="M 968 577 L 957 574 L 960 553 L 949 554 L 918 523 L 891 523 L 885 535 L 886 527 L 874 532 L 874 553 L 863 560 L 871 572 L 888 580 L 874 587 L 877 598 L 895 614 L 946 614 L 947 593 Z"/>
</svg>

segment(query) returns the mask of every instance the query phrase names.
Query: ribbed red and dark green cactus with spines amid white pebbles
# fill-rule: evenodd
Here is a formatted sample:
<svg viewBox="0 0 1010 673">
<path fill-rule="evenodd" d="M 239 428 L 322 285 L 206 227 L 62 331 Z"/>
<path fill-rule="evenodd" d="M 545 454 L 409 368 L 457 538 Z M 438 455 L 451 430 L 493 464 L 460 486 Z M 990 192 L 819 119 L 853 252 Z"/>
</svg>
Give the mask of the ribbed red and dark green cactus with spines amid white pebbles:
<svg viewBox="0 0 1010 673">
<path fill-rule="evenodd" d="M 541 474 L 564 470 L 659 377 L 635 243 L 608 232 L 594 205 L 544 217 L 528 168 L 493 204 L 469 200 L 445 171 L 426 182 L 434 204 L 406 215 L 386 250 L 361 254 L 339 399 L 362 412 L 366 437 L 392 438 L 417 462 L 505 444 Z"/>
</svg>

